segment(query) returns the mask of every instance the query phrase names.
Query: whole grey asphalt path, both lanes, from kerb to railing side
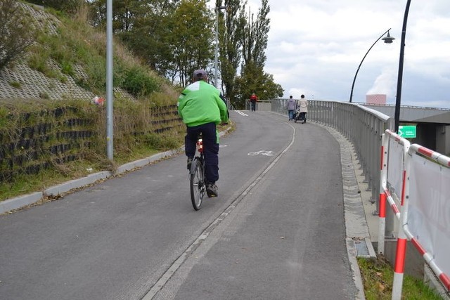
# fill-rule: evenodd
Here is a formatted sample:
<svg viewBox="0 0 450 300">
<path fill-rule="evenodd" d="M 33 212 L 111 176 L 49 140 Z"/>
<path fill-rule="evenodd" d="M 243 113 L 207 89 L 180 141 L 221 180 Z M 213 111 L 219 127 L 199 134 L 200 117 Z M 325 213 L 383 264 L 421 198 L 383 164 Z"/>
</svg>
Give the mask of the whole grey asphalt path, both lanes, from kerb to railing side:
<svg viewBox="0 0 450 300">
<path fill-rule="evenodd" d="M 176 155 L 0 216 L 1 299 L 354 299 L 339 144 L 231 112 L 219 197 L 191 206 Z"/>
</svg>

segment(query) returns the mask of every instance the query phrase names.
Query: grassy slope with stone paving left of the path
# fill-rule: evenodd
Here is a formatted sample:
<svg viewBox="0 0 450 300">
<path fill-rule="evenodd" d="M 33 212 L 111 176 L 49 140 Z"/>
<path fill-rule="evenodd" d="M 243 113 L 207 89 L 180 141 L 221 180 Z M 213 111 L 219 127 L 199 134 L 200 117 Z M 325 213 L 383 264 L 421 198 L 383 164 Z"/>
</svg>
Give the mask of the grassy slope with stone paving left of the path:
<svg viewBox="0 0 450 300">
<path fill-rule="evenodd" d="M 62 93 L 70 95 L 72 90 L 69 81 L 75 81 L 78 86 L 81 86 L 86 91 L 104 97 L 106 77 L 105 32 L 96 30 L 88 24 L 87 8 L 80 8 L 77 15 L 70 17 L 52 9 L 43 10 L 42 8 L 28 5 L 24 6 L 24 8 L 27 11 L 27 18 L 31 18 L 32 22 L 37 24 L 40 30 L 39 34 L 37 34 L 37 42 L 28 48 L 28 52 L 23 58 L 16 60 L 9 66 L 10 71 L 8 72 L 18 72 L 25 68 L 21 66 L 26 66 L 28 69 L 39 71 L 37 72 L 39 77 L 20 76 L 21 83 L 14 81 L 9 82 L 9 84 L 15 86 L 16 89 L 20 89 L 20 84 L 23 86 L 38 86 L 42 81 L 45 81 L 49 89 L 52 89 L 52 86 L 55 86 L 55 84 L 51 84 L 51 82 L 57 82 L 58 90 L 67 89 L 66 92 L 63 91 Z M 134 114 L 133 118 L 125 115 L 115 115 L 115 117 L 120 118 L 121 122 L 127 119 L 130 122 L 128 125 L 134 125 L 131 122 L 134 121 L 133 119 L 140 117 L 136 114 L 142 110 L 142 107 L 147 108 L 176 103 L 176 98 L 179 95 L 176 87 L 169 84 L 166 79 L 159 77 L 153 70 L 149 70 L 146 65 L 141 63 L 139 58 L 134 57 L 117 39 L 114 40 L 113 46 L 115 114 L 120 114 L 122 111 L 117 110 L 116 112 L 116 106 L 124 108 L 124 111 L 128 114 Z M 139 76 L 136 77 L 136 74 Z M 122 89 L 117 89 L 117 86 L 122 86 Z M 146 90 L 148 86 L 152 86 L 152 90 Z M 134 92 L 136 92 L 135 95 L 132 94 Z M 44 91 L 41 94 L 45 94 L 47 97 L 52 95 L 50 90 L 48 93 Z M 41 103 L 51 101 L 60 103 L 61 100 L 65 100 L 65 98 L 51 99 L 43 97 L 42 100 L 39 100 L 36 97 L 30 97 L 29 99 L 19 98 L 11 100 L 11 98 L 7 99 L 0 93 L 1 106 L 13 107 L 14 111 L 23 109 L 34 110 L 37 109 L 35 105 L 41 106 Z M 66 100 L 72 99 L 68 98 Z M 27 104 L 24 105 L 24 103 Z M 146 117 L 146 115 L 143 115 L 141 119 Z M 2 125 L 3 123 L 0 122 L 0 129 L 8 126 L 8 124 Z M 101 130 L 104 129 L 102 128 Z M 118 133 L 115 129 L 116 132 Z M 42 190 L 73 178 L 86 176 L 86 174 L 89 174 L 89 171 L 86 171 L 86 169 L 92 167 L 94 167 L 94 171 L 113 169 L 115 164 L 148 157 L 160 150 L 167 150 L 174 146 L 178 147 L 183 142 L 179 132 L 171 133 L 170 136 L 163 136 L 162 138 L 155 136 L 150 138 L 152 142 L 151 147 L 148 147 L 146 143 L 141 143 L 141 145 L 132 149 L 130 147 L 122 149 L 120 148 L 120 141 L 117 140 L 117 145 L 115 141 L 115 162 L 113 163 L 105 159 L 105 155 L 92 153 L 92 155 L 88 155 L 82 161 L 60 165 L 56 169 L 45 170 L 38 175 L 19 176 L 12 183 L 1 182 L 0 201 Z M 118 149 L 116 149 L 116 146 Z"/>
</svg>

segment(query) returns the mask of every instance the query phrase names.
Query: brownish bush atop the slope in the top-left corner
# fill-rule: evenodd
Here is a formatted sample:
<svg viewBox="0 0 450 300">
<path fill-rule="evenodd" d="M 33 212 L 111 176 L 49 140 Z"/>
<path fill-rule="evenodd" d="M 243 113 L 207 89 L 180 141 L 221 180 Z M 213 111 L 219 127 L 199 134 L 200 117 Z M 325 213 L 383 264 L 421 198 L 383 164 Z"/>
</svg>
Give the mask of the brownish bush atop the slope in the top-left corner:
<svg viewBox="0 0 450 300">
<path fill-rule="evenodd" d="M 0 1 L 0 69 L 34 42 L 36 30 L 30 19 L 15 0 Z"/>
</svg>

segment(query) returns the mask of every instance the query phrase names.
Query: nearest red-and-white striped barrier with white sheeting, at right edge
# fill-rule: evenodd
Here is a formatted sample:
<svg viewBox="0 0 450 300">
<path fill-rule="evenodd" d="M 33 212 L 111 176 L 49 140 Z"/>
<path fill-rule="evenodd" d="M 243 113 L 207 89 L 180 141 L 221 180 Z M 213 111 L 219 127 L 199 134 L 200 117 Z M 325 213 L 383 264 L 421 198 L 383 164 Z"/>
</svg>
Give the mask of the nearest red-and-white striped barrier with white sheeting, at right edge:
<svg viewBox="0 0 450 300">
<path fill-rule="evenodd" d="M 407 201 L 401 215 L 401 232 L 450 291 L 450 157 L 413 144 L 406 156 L 406 176 Z M 396 265 L 402 260 L 396 259 Z M 392 299 L 400 296 L 401 286 L 394 286 Z"/>
</svg>

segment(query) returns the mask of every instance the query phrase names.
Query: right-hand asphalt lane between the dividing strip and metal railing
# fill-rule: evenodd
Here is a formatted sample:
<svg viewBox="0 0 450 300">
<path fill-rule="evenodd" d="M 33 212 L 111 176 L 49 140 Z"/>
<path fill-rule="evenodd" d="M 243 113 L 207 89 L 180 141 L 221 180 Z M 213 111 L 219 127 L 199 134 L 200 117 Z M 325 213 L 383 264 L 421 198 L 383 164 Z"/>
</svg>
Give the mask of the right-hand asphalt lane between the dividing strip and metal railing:
<svg viewBox="0 0 450 300">
<path fill-rule="evenodd" d="M 266 152 L 236 158 L 239 166 L 251 166 L 252 159 L 276 157 L 160 282 L 162 288 L 144 299 L 356 298 L 345 244 L 338 142 L 320 126 L 264 115 L 272 118 L 285 123 L 290 143 L 271 151 L 276 143 L 265 139 Z"/>
</svg>

